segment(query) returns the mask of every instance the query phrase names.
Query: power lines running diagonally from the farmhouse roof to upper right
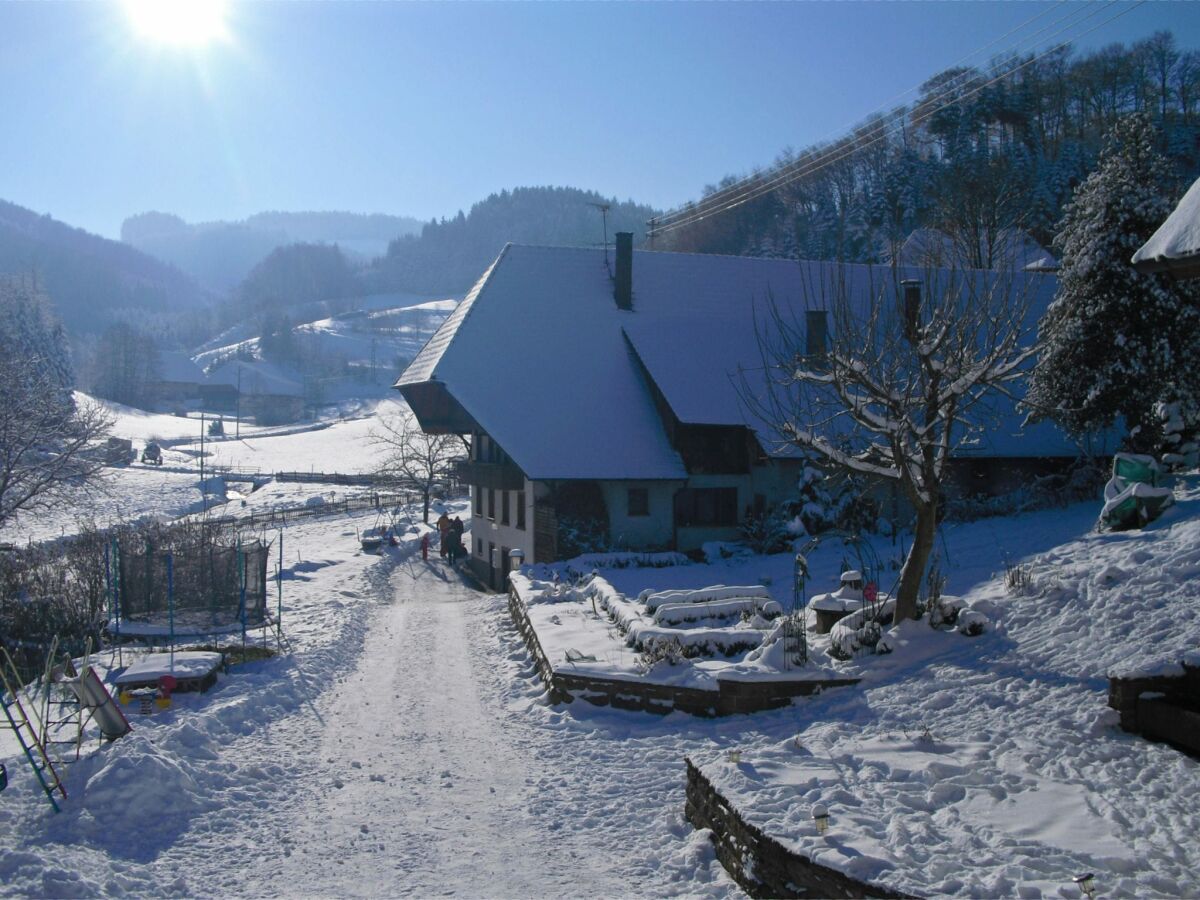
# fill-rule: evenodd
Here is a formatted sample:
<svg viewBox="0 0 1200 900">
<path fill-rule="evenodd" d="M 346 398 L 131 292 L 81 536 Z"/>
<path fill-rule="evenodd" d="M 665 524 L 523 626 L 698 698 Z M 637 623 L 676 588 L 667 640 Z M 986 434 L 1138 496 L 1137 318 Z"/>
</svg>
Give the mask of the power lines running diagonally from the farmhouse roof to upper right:
<svg viewBox="0 0 1200 900">
<path fill-rule="evenodd" d="M 1090 35 L 1092 31 L 1096 31 L 1097 29 L 1099 29 L 1099 28 L 1109 24 L 1110 22 L 1114 22 L 1114 20 L 1118 19 L 1120 17 L 1124 16 L 1127 12 L 1133 11 L 1134 8 L 1136 8 L 1138 6 L 1141 6 L 1147 0 L 1138 0 L 1133 5 L 1127 6 L 1126 8 L 1121 10 L 1120 12 L 1117 12 L 1115 16 L 1111 16 L 1111 17 L 1104 19 L 1103 22 L 1093 25 L 1092 28 L 1087 29 L 1086 31 L 1084 31 L 1082 34 L 1078 35 L 1073 40 L 1079 40 L 1080 37 L 1085 37 L 1085 36 Z M 1109 0 L 1106 7 L 1102 7 L 1102 6 L 1097 5 L 1097 7 L 1092 10 L 1092 12 L 1090 12 L 1087 16 L 1082 17 L 1082 19 L 1080 19 L 1080 22 L 1074 23 L 1074 24 L 1075 25 L 1081 24 L 1082 22 L 1086 22 L 1088 18 L 1091 18 L 1092 16 L 1094 16 L 1100 8 L 1111 7 L 1111 6 L 1114 6 L 1114 5 L 1118 4 L 1118 2 L 1121 2 L 1121 0 Z M 1064 18 L 1068 18 L 1068 17 L 1064 17 Z M 1064 20 L 1064 19 L 1060 19 L 1060 23 L 1062 20 Z M 1055 24 L 1060 24 L 1060 23 L 1055 23 Z M 1042 29 L 1042 30 L 1044 31 L 1045 29 Z M 1062 34 L 1062 31 L 1064 31 L 1064 30 L 1067 30 L 1067 29 L 1066 28 L 1060 29 L 1054 35 L 1054 37 L 1057 37 L 1057 35 Z M 984 82 L 982 84 L 976 85 L 970 91 L 955 96 L 954 100 L 950 101 L 950 102 L 942 103 L 941 106 L 936 106 L 934 108 L 928 108 L 926 107 L 926 109 L 923 113 L 920 113 L 919 115 L 914 116 L 911 121 L 912 121 L 912 124 L 920 124 L 920 122 L 928 120 L 929 118 L 931 118 L 932 115 L 935 115 L 936 113 L 941 112 L 942 109 L 946 109 L 946 108 L 953 106 L 953 103 L 961 102 L 962 100 L 966 100 L 968 97 L 974 96 L 976 94 L 978 94 L 979 91 L 984 90 L 985 88 L 989 88 L 990 85 L 996 84 L 997 82 L 1003 80 L 1004 78 L 1012 77 L 1013 74 L 1015 74 L 1016 72 L 1021 71 L 1022 68 L 1032 65 L 1033 62 L 1037 62 L 1040 59 L 1044 59 L 1045 56 L 1050 55 L 1051 53 L 1056 53 L 1057 50 L 1060 50 L 1060 49 L 1062 49 L 1062 48 L 1064 48 L 1064 47 L 1067 47 L 1069 44 L 1070 44 L 1069 40 L 1068 41 L 1063 41 L 1063 42 L 1061 42 L 1058 44 L 1055 44 L 1050 49 L 1048 49 L 1048 50 L 1045 50 L 1045 52 L 1043 52 L 1040 54 L 1037 54 L 1036 56 L 1030 58 L 1028 60 L 1021 62 L 1020 65 L 1015 65 L 1012 68 L 1009 68 L 1008 71 L 1002 72 L 1001 74 L 998 74 L 998 76 L 996 76 L 996 77 L 994 77 L 994 78 L 991 78 L 991 79 L 989 79 L 989 80 L 986 80 L 986 82 Z M 961 85 L 960 84 L 955 84 L 954 86 L 950 86 L 950 88 L 943 90 L 941 94 L 938 94 L 938 95 L 936 95 L 934 97 L 934 101 L 937 102 L 937 101 L 942 100 L 946 96 L 955 94 L 959 86 L 961 86 Z M 902 96 L 902 95 L 900 95 L 900 96 Z M 750 200 L 757 199 L 758 197 L 761 197 L 761 196 L 763 196 L 766 193 L 769 193 L 769 192 L 774 191 L 778 187 L 781 187 L 781 186 L 784 186 L 786 184 L 791 184 L 792 181 L 796 181 L 797 179 L 800 179 L 800 178 L 804 178 L 806 175 L 811 175 L 811 174 L 814 174 L 816 172 L 820 172 L 821 169 L 823 169 L 823 168 L 826 168 L 828 166 L 832 166 L 832 164 L 834 164 L 836 162 L 840 162 L 841 160 L 845 160 L 846 157 L 848 157 L 848 156 L 851 156 L 851 155 L 860 151 L 860 150 L 865 150 L 865 149 L 868 149 L 868 148 L 870 148 L 870 146 L 872 146 L 875 144 L 878 144 L 881 140 L 887 139 L 887 137 L 888 137 L 888 128 L 889 127 L 894 127 L 894 124 L 893 122 L 888 122 L 888 121 L 882 121 L 880 124 L 871 125 L 871 126 L 869 126 L 868 128 L 865 128 L 859 134 L 847 134 L 846 136 L 846 137 L 854 137 L 854 138 L 857 138 L 857 140 L 856 140 L 856 143 L 854 143 L 853 146 L 850 146 L 850 148 L 833 146 L 833 148 L 829 148 L 829 149 L 827 149 L 824 151 L 818 151 L 818 152 L 816 152 L 815 155 L 812 155 L 810 157 L 797 160 L 796 162 L 792 162 L 792 163 L 788 163 L 788 164 L 781 167 L 781 169 L 775 175 L 772 175 L 767 181 L 762 180 L 762 178 L 763 178 L 762 175 L 757 175 L 757 174 L 756 175 L 751 175 L 751 176 L 749 176 L 746 179 L 743 179 L 743 181 L 740 184 L 730 186 L 728 188 L 725 188 L 721 192 L 714 193 L 712 197 L 706 198 L 700 204 L 689 204 L 688 206 L 683 206 L 683 208 L 678 208 L 677 210 L 672 210 L 671 212 L 667 212 L 664 216 L 655 217 L 655 218 L 650 220 L 649 223 L 648 223 L 649 228 L 650 228 L 652 241 L 653 241 L 653 238 L 656 234 L 664 234 L 666 232 L 671 232 L 671 230 L 674 230 L 677 228 L 682 228 L 684 226 L 692 224 L 694 222 L 698 222 L 698 221 L 702 221 L 704 218 L 709 218 L 710 216 L 715 216 L 715 215 L 720 215 L 721 212 L 726 212 L 726 211 L 728 211 L 731 209 L 734 209 L 736 206 L 740 206 L 740 205 L 743 205 L 745 203 L 749 203 Z M 708 206 L 706 206 L 706 204 L 708 204 Z"/>
</svg>

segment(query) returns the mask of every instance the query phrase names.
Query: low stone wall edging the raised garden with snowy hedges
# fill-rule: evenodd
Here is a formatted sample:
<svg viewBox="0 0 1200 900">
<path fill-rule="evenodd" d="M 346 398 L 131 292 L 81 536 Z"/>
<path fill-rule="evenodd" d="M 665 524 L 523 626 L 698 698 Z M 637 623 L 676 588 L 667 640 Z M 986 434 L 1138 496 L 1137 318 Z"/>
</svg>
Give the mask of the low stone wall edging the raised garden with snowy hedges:
<svg viewBox="0 0 1200 900">
<path fill-rule="evenodd" d="M 575 698 L 586 700 L 601 707 L 617 709 L 636 709 L 647 713 L 666 714 L 673 710 L 692 715 L 731 715 L 734 713 L 755 713 L 762 709 L 786 707 L 793 697 L 816 694 L 824 688 L 839 688 L 857 684 L 857 678 L 841 678 L 823 682 L 718 682 L 718 690 L 698 688 L 677 688 L 673 685 L 647 682 L 629 682 L 619 678 L 604 678 L 580 672 L 556 670 L 546 656 L 538 640 L 538 632 L 526 613 L 524 601 L 516 588 L 509 588 L 509 613 L 521 636 L 524 637 L 529 654 L 538 666 L 538 674 L 546 684 L 551 698 L 556 703 L 570 703 Z"/>
</svg>

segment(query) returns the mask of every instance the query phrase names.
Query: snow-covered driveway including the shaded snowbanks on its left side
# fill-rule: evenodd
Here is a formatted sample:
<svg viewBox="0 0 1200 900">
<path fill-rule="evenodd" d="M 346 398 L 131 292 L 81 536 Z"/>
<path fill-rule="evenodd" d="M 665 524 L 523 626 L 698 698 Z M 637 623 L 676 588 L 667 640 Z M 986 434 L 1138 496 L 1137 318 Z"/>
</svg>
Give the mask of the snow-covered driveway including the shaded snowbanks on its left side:
<svg viewBox="0 0 1200 900">
<path fill-rule="evenodd" d="M 60 816 L 0 748 L 0 895 L 740 896 L 683 757 L 778 716 L 550 706 L 503 596 L 356 523 L 288 529 L 294 658 L 136 720 Z"/>
</svg>

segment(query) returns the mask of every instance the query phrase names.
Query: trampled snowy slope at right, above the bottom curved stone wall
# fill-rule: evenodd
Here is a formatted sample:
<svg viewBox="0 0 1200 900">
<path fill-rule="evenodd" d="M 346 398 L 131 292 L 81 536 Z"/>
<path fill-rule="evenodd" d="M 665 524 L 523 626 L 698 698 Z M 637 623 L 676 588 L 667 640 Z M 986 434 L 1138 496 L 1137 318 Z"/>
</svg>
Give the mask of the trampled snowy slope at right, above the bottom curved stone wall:
<svg viewBox="0 0 1200 900">
<path fill-rule="evenodd" d="M 950 558 L 979 562 L 1076 530 L 967 580 L 944 612 L 970 632 L 985 611 L 982 634 L 930 653 L 928 619 L 906 623 L 858 689 L 805 701 L 791 733 L 691 755 L 697 780 L 797 859 L 893 892 L 1081 898 L 1092 872 L 1100 896 L 1195 895 L 1200 766 L 1122 731 L 1105 677 L 1198 659 L 1200 491 L 1176 492 L 1122 534 L 1091 529 L 1096 504 L 947 528 Z"/>
</svg>

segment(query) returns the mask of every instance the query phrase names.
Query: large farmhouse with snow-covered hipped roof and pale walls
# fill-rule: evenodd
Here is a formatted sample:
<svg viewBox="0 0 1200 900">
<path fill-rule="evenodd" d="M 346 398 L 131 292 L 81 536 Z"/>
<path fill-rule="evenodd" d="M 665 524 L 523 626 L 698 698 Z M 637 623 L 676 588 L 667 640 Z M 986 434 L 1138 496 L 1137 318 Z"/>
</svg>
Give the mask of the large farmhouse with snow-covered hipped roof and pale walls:
<svg viewBox="0 0 1200 900">
<path fill-rule="evenodd" d="M 506 246 L 395 385 L 426 432 L 472 438 L 460 470 L 472 565 L 503 584 L 511 550 L 557 559 L 562 529 L 587 520 L 613 545 L 688 551 L 737 539 L 749 515 L 794 497 L 803 461 L 745 396 L 764 382 L 768 299 L 823 347 L 814 286 L 836 271 L 635 252 L 628 234 L 616 253 Z M 1034 286 L 1039 314 L 1052 276 L 1014 277 Z M 1022 430 L 1009 402 L 959 478 L 995 492 L 1014 468 L 1076 452 L 1049 425 Z M 1012 463 L 1007 475 L 996 461 Z"/>
</svg>

